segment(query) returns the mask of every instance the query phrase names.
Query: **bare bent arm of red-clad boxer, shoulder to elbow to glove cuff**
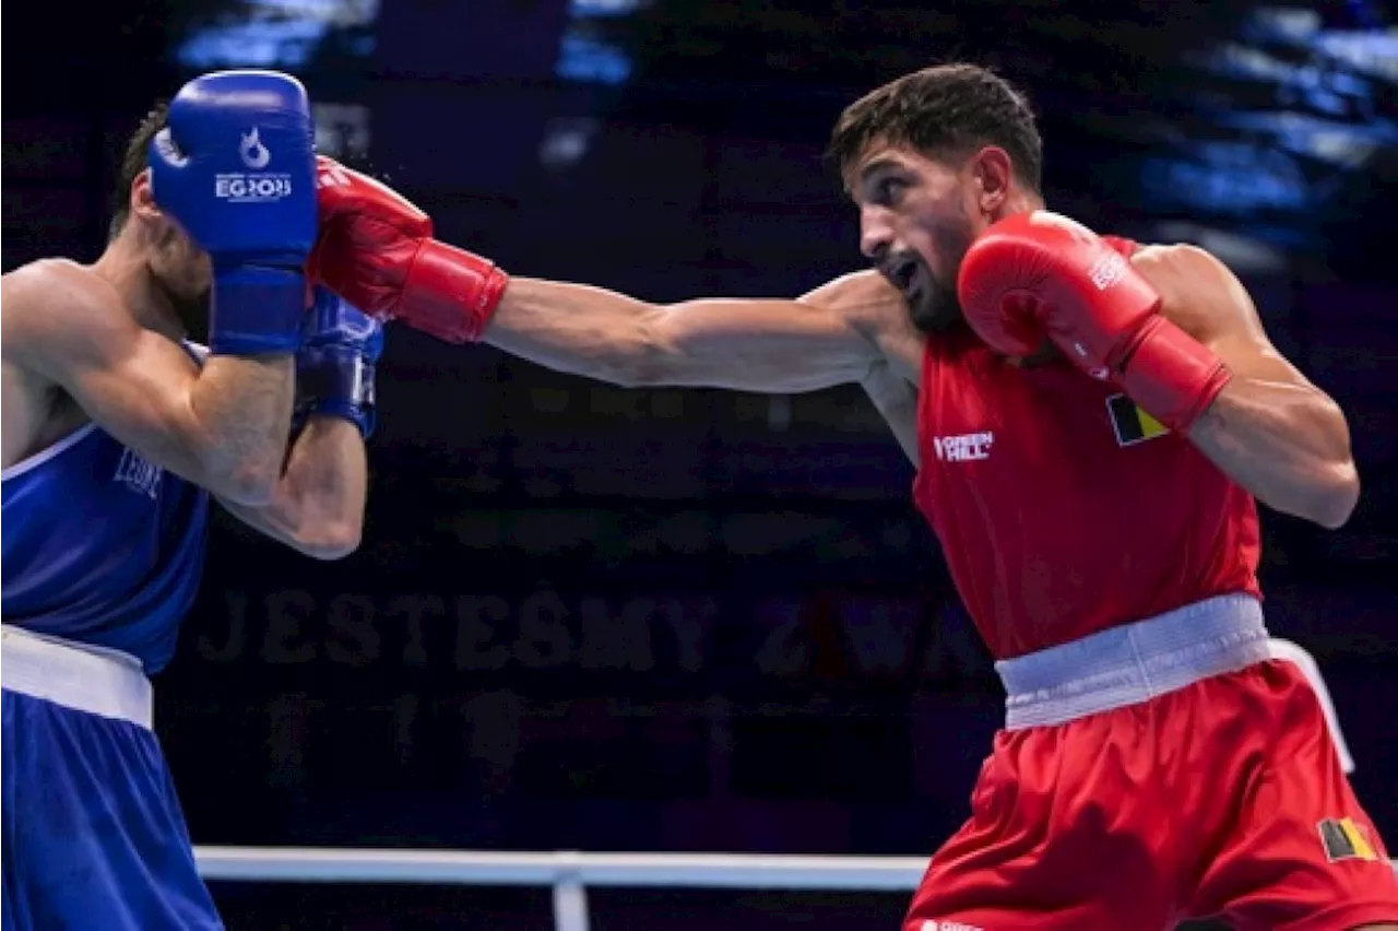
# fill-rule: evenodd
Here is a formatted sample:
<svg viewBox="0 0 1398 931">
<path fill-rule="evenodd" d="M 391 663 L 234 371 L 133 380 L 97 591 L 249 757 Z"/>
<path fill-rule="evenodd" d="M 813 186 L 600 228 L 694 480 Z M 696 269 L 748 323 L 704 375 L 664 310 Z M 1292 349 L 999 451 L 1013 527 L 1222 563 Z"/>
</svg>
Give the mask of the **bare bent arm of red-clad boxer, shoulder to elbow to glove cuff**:
<svg viewBox="0 0 1398 931">
<path fill-rule="evenodd" d="M 1267 338 L 1237 277 L 1192 246 L 1145 249 L 1134 264 L 1160 291 L 1165 316 L 1233 375 L 1190 440 L 1269 507 L 1343 524 L 1359 500 L 1345 415 Z"/>
</svg>

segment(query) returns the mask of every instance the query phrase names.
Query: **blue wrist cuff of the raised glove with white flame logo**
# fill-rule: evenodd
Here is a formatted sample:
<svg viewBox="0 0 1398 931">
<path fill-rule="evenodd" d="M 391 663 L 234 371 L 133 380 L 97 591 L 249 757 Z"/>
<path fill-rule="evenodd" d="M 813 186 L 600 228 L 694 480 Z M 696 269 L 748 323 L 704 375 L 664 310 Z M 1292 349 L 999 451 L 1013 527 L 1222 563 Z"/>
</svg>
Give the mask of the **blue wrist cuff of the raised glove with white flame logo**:
<svg viewBox="0 0 1398 931">
<path fill-rule="evenodd" d="M 208 351 L 214 355 L 280 355 L 301 345 L 306 280 L 291 268 L 214 268 Z"/>
</svg>

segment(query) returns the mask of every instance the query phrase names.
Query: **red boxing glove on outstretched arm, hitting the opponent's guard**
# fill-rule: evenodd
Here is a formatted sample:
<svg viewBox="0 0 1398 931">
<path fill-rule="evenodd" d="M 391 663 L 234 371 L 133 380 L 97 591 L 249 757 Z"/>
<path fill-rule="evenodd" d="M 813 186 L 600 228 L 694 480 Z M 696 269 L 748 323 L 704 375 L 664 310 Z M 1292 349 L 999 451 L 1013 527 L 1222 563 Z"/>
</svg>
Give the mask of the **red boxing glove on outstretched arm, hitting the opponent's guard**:
<svg viewBox="0 0 1398 931">
<path fill-rule="evenodd" d="M 320 236 L 308 277 L 380 320 L 475 342 L 509 284 L 493 263 L 438 242 L 432 219 L 366 175 L 316 158 Z"/>
</svg>

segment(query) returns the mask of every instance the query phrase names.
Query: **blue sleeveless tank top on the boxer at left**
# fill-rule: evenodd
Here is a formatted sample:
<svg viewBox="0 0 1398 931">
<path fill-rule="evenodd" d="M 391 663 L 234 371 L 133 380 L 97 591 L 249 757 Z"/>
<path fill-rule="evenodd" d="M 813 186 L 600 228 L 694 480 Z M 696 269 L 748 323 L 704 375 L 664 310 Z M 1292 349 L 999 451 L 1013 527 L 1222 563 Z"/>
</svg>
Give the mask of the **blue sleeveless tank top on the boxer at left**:
<svg viewBox="0 0 1398 931">
<path fill-rule="evenodd" d="M 158 672 L 204 568 L 208 493 L 88 424 L 0 470 L 0 623 Z"/>
</svg>

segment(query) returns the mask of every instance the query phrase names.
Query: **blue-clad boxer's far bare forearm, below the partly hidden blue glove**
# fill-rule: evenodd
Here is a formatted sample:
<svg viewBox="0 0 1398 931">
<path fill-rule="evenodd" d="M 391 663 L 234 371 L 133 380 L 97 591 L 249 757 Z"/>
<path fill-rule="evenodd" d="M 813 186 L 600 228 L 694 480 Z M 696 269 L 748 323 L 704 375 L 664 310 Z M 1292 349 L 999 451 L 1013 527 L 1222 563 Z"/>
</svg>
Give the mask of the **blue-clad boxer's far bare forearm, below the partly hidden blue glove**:
<svg viewBox="0 0 1398 931">
<path fill-rule="evenodd" d="M 219 503 L 245 524 L 316 559 L 359 548 L 369 466 L 359 428 L 312 415 L 291 446 L 287 470 L 266 505 Z"/>
</svg>

